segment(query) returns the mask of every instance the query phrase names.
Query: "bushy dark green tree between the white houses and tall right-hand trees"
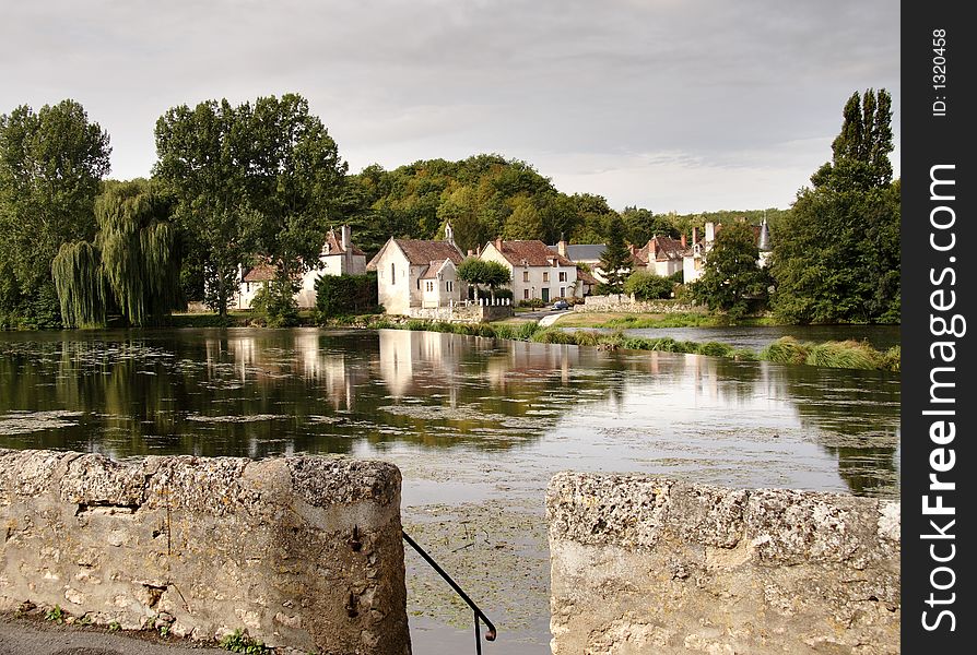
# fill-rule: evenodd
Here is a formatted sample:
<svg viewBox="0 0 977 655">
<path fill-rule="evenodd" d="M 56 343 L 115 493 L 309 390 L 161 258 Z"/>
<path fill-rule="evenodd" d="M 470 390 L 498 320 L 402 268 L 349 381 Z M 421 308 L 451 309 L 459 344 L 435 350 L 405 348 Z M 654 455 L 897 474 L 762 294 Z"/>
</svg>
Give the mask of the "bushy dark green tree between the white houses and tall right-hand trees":
<svg viewBox="0 0 977 655">
<path fill-rule="evenodd" d="M 723 226 L 706 257 L 705 272 L 692 284 L 692 295 L 710 310 L 733 318 L 746 313 L 748 301 L 766 294 L 768 278 L 757 265 L 756 237 L 745 223 Z"/>
</svg>

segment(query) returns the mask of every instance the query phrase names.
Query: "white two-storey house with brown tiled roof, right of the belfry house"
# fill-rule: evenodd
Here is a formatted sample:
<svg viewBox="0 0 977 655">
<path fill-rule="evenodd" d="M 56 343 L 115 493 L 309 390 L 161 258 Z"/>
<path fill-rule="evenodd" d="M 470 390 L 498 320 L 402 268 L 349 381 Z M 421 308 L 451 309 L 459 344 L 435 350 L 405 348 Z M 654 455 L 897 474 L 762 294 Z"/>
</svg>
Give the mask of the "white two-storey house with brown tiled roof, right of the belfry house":
<svg viewBox="0 0 977 655">
<path fill-rule="evenodd" d="M 539 239 L 529 241 L 490 241 L 479 255 L 498 262 L 509 270 L 513 299 L 539 298 L 543 302 L 556 298 L 582 296 L 577 293 L 577 265 L 551 250 Z"/>
</svg>

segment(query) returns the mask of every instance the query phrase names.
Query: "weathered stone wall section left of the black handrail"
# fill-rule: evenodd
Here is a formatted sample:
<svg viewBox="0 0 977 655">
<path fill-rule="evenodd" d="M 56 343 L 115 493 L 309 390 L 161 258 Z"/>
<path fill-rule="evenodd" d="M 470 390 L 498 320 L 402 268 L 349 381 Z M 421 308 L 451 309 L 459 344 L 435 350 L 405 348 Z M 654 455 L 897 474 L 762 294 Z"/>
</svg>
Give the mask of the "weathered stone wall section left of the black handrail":
<svg viewBox="0 0 977 655">
<path fill-rule="evenodd" d="M 391 464 L 0 450 L 0 610 L 410 652 Z"/>
</svg>

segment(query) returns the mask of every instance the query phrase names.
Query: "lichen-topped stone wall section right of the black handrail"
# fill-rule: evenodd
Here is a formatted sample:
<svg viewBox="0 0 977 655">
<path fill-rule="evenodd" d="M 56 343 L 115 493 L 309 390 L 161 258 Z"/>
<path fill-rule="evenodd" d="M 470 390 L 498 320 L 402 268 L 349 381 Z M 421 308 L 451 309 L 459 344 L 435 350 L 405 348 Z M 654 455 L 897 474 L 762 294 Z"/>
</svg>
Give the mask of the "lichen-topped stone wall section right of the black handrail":
<svg viewBox="0 0 977 655">
<path fill-rule="evenodd" d="M 546 491 L 554 654 L 899 652 L 899 505 L 645 475 Z"/>
</svg>

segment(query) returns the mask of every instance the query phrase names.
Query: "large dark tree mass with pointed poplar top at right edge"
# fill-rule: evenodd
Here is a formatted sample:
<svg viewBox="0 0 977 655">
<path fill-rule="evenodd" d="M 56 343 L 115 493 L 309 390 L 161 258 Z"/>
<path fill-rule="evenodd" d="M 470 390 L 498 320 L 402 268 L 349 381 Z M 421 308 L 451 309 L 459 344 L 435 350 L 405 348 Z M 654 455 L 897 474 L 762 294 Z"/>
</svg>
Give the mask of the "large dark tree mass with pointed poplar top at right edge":
<svg viewBox="0 0 977 655">
<path fill-rule="evenodd" d="M 845 104 L 833 159 L 774 225 L 774 310 L 798 323 L 898 322 L 899 193 L 885 90 Z"/>
</svg>

